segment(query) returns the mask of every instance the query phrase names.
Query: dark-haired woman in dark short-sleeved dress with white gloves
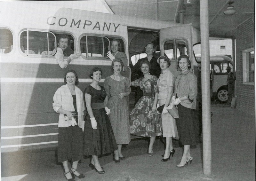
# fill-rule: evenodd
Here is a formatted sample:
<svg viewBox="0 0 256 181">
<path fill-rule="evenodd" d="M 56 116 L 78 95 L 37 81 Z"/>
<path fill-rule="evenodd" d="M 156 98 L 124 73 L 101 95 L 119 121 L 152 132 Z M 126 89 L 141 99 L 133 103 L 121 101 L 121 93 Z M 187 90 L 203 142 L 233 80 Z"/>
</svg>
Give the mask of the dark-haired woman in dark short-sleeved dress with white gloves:
<svg viewBox="0 0 256 181">
<path fill-rule="evenodd" d="M 101 68 L 94 67 L 90 73 L 92 83 L 84 91 L 87 108 L 84 118 L 84 155 L 92 155 L 89 166 L 99 174 L 104 174 L 98 155 L 117 152 L 117 145 L 108 118 L 110 109 L 106 104 L 107 93 L 104 87 L 99 85 L 101 76 Z"/>
</svg>

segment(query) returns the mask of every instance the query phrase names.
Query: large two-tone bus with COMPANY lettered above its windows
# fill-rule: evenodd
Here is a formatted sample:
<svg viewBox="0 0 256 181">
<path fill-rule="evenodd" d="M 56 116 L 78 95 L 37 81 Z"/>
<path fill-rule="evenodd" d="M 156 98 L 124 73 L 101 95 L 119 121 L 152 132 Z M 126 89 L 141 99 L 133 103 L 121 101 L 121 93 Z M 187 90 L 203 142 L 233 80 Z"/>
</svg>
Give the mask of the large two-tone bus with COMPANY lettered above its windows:
<svg viewBox="0 0 256 181">
<path fill-rule="evenodd" d="M 64 84 L 67 70 L 76 70 L 78 87 L 90 83 L 92 67 L 100 67 L 104 78 L 112 74 L 107 57 L 112 39 L 120 40 L 129 64 L 144 53 L 148 42 L 156 46 L 156 56 L 171 59 L 169 69 L 180 74 L 177 57 L 187 54 L 201 86 L 193 44 L 200 32 L 192 24 L 148 20 L 100 12 L 90 12 L 29 2 L 1 2 L 1 152 L 56 147 L 58 114 L 52 108 L 55 91 Z M 57 36 L 70 37 L 68 49 L 80 57 L 61 69 L 54 54 Z M 68 58 L 68 57 L 65 57 Z M 129 76 L 129 71 L 124 73 Z M 199 92 L 199 91 L 198 91 Z M 200 99 L 200 93 L 198 94 Z"/>
</svg>

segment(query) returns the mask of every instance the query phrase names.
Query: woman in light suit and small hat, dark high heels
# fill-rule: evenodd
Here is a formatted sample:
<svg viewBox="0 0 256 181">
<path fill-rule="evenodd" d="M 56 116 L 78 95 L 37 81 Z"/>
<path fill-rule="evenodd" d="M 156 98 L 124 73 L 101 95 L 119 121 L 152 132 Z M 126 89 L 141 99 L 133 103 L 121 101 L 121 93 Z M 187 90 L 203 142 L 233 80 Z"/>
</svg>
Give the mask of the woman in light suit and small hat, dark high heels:
<svg viewBox="0 0 256 181">
<path fill-rule="evenodd" d="M 162 73 L 157 80 L 159 88 L 158 100 L 159 105 L 164 105 L 162 116 L 163 137 L 166 137 L 166 147 L 164 152 L 164 158 L 162 161 L 170 160 L 171 155 L 175 153 L 172 145 L 172 138 L 178 137 L 177 127 L 175 119 L 168 113 L 167 107 L 169 106 L 173 93 L 174 77 L 168 67 L 171 65 L 170 59 L 165 56 L 161 56 L 157 59 L 162 69 Z"/>
</svg>

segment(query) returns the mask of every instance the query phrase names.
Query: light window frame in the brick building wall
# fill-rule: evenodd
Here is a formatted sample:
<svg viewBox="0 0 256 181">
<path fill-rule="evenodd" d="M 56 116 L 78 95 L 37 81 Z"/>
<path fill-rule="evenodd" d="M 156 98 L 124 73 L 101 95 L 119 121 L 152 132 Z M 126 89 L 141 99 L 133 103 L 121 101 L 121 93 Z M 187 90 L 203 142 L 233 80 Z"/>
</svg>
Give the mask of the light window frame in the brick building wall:
<svg viewBox="0 0 256 181">
<path fill-rule="evenodd" d="M 243 84 L 247 84 L 247 85 L 254 85 L 255 83 L 255 80 L 254 82 L 249 82 L 249 73 L 248 73 L 248 53 L 251 52 L 251 51 L 254 51 L 254 66 L 255 66 L 255 49 L 254 47 L 252 48 L 249 48 L 249 49 L 246 49 L 244 51 L 242 51 L 242 57 L 243 57 Z M 249 71 L 250 72 L 250 71 Z M 255 77 L 255 70 L 254 70 L 254 77 Z"/>
</svg>

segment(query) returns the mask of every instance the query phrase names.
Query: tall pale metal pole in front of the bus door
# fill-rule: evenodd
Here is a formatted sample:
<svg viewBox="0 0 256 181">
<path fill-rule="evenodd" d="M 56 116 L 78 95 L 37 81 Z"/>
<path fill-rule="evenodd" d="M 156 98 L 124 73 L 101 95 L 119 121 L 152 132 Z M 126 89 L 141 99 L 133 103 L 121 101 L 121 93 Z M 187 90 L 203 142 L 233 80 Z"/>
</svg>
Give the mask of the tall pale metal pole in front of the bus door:
<svg viewBox="0 0 256 181">
<path fill-rule="evenodd" d="M 201 30 L 201 80 L 202 80 L 202 118 L 203 118 L 203 179 L 212 178 L 211 141 L 211 99 L 210 99 L 210 48 L 208 0 L 200 0 Z"/>
</svg>

